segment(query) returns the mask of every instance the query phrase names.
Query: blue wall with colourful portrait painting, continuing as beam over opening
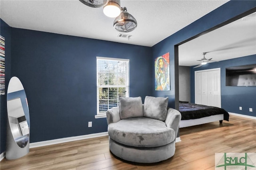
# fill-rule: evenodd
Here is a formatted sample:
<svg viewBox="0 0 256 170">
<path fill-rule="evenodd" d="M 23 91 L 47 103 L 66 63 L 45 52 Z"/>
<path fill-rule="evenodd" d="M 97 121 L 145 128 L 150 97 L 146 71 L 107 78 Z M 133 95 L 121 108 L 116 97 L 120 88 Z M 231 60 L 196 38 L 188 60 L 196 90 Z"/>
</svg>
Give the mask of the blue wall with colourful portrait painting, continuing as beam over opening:
<svg viewBox="0 0 256 170">
<path fill-rule="evenodd" d="M 178 50 L 175 45 L 180 45 L 187 40 L 206 33 L 208 30 L 218 28 L 228 20 L 243 14 L 248 10 L 256 11 L 256 1 L 250 0 L 231 0 L 226 4 L 220 6 L 216 10 L 196 20 L 192 24 L 186 26 L 182 30 L 172 34 L 163 41 L 157 43 L 152 47 L 153 58 L 151 60 L 152 69 L 154 69 L 154 59 L 160 55 L 170 52 L 170 91 L 154 91 L 152 87 L 153 95 L 158 97 L 169 97 L 169 106 L 178 108 Z M 170 18 L 170 22 L 172 19 Z M 154 77 L 154 71 L 152 73 Z M 152 84 L 154 80 L 152 80 Z"/>
</svg>

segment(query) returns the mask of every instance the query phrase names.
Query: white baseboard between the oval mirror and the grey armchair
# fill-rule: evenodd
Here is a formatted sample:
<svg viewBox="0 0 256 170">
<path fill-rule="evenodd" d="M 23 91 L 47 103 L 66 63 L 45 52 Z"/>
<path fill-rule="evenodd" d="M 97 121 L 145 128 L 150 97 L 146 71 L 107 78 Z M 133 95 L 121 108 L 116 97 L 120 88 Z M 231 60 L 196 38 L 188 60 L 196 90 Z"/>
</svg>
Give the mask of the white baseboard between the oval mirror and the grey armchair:
<svg viewBox="0 0 256 170">
<path fill-rule="evenodd" d="M 108 136 L 108 132 L 86 134 L 86 135 L 81 135 L 81 136 L 60 138 L 60 139 L 54 139 L 54 140 L 46 140 L 46 141 L 42 141 L 42 142 L 33 142 L 33 143 L 29 144 L 30 145 L 29 148 L 36 148 L 36 147 L 40 147 L 40 146 L 47 146 L 47 145 L 52 145 L 52 144 L 64 143 L 64 142 L 72 142 L 72 141 L 76 141 L 76 140 L 96 138 L 96 137 L 101 137 L 101 136 Z"/>
</svg>

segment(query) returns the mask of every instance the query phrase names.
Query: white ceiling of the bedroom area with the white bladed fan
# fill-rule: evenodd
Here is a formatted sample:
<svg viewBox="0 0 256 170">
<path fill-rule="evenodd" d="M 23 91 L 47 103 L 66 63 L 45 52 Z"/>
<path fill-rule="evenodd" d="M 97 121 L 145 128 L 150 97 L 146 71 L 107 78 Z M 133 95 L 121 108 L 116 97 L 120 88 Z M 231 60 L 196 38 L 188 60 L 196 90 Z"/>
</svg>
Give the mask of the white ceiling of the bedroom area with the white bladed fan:
<svg viewBox="0 0 256 170">
<path fill-rule="evenodd" d="M 256 54 L 256 12 L 179 45 L 179 65 L 199 65 L 203 52 L 214 61 Z"/>
</svg>

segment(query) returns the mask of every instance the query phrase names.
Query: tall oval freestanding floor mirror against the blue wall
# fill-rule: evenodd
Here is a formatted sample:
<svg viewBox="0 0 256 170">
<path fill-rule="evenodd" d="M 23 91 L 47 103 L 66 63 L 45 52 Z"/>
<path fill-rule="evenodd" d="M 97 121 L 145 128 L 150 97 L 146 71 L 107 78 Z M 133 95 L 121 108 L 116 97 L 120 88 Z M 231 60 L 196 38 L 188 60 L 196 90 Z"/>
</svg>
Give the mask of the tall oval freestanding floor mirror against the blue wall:
<svg viewBox="0 0 256 170">
<path fill-rule="evenodd" d="M 20 158 L 29 152 L 30 119 L 24 87 L 18 77 L 10 79 L 7 89 L 6 159 Z"/>
</svg>

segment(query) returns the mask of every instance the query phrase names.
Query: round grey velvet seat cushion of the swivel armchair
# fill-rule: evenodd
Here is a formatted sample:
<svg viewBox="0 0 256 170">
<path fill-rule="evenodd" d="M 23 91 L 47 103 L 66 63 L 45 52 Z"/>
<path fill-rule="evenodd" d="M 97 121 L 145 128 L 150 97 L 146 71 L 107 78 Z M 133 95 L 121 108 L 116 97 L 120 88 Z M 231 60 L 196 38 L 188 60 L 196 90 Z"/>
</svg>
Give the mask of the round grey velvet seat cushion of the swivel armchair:
<svg viewBox="0 0 256 170">
<path fill-rule="evenodd" d="M 175 131 L 163 121 L 147 117 L 122 119 L 108 125 L 108 135 L 118 143 L 136 147 L 163 146 L 175 140 Z"/>
</svg>

